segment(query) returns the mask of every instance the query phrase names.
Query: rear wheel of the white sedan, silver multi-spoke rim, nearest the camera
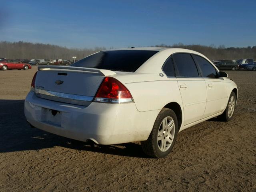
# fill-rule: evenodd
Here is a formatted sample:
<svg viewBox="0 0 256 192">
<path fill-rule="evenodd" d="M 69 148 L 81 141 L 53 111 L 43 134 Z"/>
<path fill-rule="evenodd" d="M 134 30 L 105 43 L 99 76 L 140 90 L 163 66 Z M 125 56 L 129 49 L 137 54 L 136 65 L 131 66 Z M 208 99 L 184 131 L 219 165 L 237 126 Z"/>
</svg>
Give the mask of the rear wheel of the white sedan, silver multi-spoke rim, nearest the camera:
<svg viewBox="0 0 256 192">
<path fill-rule="evenodd" d="M 178 120 L 173 110 L 163 108 L 158 114 L 150 136 L 141 141 L 144 153 L 154 158 L 167 156 L 176 141 Z"/>
</svg>

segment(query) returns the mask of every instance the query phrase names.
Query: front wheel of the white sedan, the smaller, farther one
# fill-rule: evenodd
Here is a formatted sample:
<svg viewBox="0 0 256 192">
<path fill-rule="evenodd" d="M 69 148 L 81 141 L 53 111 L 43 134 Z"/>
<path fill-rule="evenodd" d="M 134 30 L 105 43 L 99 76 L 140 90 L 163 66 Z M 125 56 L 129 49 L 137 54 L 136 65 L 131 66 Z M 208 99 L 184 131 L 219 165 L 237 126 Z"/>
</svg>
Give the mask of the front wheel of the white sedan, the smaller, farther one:
<svg viewBox="0 0 256 192">
<path fill-rule="evenodd" d="M 230 121 L 236 109 L 236 94 L 231 92 L 225 111 L 219 116 L 222 121 Z"/>
</svg>

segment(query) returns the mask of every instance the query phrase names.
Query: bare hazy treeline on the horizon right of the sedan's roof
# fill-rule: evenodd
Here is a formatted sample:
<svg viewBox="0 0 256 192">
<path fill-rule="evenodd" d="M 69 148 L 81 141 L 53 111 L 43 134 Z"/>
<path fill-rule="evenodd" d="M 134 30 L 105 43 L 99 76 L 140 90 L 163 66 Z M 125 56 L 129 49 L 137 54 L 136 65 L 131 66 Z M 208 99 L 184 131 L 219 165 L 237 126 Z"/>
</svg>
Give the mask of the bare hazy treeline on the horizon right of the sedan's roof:
<svg viewBox="0 0 256 192">
<path fill-rule="evenodd" d="M 157 47 L 171 47 L 171 48 L 184 48 L 190 49 L 204 54 L 210 60 L 220 60 L 220 59 L 230 59 L 230 60 L 238 60 L 242 58 L 252 58 L 256 59 L 256 46 L 248 46 L 248 47 L 228 47 L 225 48 L 224 45 L 214 46 L 213 44 L 210 46 L 202 46 L 202 45 L 184 45 L 182 43 L 173 44 L 172 46 L 168 46 L 166 44 L 156 45 Z"/>
</svg>

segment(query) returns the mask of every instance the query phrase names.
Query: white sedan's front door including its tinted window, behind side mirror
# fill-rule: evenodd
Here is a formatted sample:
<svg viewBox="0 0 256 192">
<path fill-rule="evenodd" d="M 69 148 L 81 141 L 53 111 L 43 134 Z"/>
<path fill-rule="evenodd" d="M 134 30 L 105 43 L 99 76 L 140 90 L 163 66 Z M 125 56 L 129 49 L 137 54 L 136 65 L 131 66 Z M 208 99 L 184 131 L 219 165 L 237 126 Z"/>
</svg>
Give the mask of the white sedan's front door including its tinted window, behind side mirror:
<svg viewBox="0 0 256 192">
<path fill-rule="evenodd" d="M 226 108 L 226 82 L 224 82 L 223 78 L 218 78 L 218 72 L 208 60 L 195 54 L 193 54 L 193 58 L 206 82 L 207 102 L 203 116 L 206 118 Z"/>
</svg>

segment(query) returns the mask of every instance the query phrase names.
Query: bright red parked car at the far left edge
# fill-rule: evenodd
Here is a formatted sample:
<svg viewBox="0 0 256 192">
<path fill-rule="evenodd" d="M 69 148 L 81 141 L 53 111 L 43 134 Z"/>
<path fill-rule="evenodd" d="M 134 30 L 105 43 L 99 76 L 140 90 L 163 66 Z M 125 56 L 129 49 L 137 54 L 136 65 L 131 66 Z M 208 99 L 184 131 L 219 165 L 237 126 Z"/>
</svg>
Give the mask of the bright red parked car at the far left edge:
<svg viewBox="0 0 256 192">
<path fill-rule="evenodd" d="M 24 69 L 28 70 L 31 69 L 31 65 L 27 63 L 22 63 L 14 59 L 0 59 L 0 69 L 7 70 L 7 69 Z"/>
</svg>

